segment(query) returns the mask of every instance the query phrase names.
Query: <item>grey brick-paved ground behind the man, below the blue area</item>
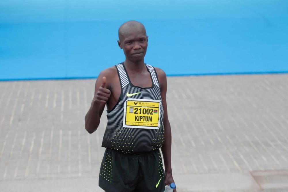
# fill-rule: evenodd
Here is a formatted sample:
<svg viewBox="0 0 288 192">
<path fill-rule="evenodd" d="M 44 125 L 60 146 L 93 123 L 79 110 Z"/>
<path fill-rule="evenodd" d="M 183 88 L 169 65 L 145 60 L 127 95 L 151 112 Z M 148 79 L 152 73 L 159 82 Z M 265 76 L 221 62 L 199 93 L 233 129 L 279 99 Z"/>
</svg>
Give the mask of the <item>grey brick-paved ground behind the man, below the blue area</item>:
<svg viewBox="0 0 288 192">
<path fill-rule="evenodd" d="M 94 82 L 0 82 L 1 191 L 101 191 Z M 168 77 L 178 191 L 288 191 L 287 95 L 288 74 Z"/>
</svg>

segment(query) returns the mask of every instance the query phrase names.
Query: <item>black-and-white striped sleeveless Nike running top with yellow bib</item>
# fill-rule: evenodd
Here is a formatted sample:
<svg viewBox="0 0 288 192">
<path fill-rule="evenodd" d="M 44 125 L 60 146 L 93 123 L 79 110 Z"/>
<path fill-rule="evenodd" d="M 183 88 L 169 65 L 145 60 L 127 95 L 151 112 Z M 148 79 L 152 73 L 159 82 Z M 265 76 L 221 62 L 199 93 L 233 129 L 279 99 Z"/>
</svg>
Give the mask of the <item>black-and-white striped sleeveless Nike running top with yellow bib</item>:
<svg viewBox="0 0 288 192">
<path fill-rule="evenodd" d="M 134 86 L 123 63 L 115 65 L 121 84 L 116 105 L 107 111 L 107 126 L 102 147 L 123 153 L 148 152 L 164 143 L 163 104 L 158 77 L 153 66 L 146 64 L 152 86 Z"/>
</svg>

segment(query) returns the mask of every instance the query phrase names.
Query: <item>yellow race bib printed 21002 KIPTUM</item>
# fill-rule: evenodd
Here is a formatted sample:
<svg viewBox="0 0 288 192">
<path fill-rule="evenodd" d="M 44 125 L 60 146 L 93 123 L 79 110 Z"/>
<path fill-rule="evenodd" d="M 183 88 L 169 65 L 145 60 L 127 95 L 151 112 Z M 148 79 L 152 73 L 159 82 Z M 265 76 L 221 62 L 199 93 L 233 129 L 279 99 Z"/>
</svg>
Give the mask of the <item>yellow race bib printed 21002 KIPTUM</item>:
<svg viewBox="0 0 288 192">
<path fill-rule="evenodd" d="M 123 127 L 159 129 L 161 100 L 127 99 Z"/>
</svg>

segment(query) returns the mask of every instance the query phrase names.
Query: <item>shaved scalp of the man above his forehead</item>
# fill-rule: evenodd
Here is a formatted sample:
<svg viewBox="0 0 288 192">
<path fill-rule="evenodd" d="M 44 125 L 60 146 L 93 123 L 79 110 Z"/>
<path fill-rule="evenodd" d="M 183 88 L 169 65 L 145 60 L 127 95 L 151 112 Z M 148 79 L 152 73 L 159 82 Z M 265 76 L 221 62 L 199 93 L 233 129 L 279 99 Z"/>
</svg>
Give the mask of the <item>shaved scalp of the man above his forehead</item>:
<svg viewBox="0 0 288 192">
<path fill-rule="evenodd" d="M 138 21 L 127 21 L 123 23 L 118 30 L 119 41 L 123 40 L 123 37 L 131 30 L 137 28 L 140 31 L 143 31 L 146 36 L 146 29 L 144 25 Z"/>
</svg>

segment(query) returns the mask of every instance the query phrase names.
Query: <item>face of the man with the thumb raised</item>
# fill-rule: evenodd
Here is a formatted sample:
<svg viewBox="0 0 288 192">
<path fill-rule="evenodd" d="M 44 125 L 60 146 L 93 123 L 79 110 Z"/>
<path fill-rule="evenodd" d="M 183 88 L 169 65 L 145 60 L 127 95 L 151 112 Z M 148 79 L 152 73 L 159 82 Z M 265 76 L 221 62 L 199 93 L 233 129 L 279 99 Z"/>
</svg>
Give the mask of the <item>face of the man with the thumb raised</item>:
<svg viewBox="0 0 288 192">
<path fill-rule="evenodd" d="M 144 28 L 130 27 L 122 34 L 118 45 L 123 49 L 126 59 L 139 62 L 146 54 L 148 37 Z"/>
</svg>

